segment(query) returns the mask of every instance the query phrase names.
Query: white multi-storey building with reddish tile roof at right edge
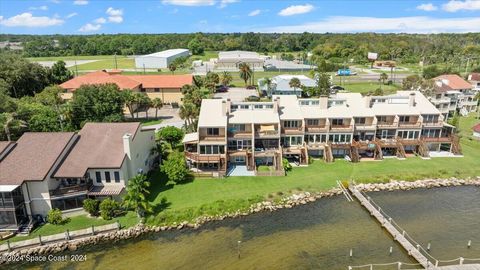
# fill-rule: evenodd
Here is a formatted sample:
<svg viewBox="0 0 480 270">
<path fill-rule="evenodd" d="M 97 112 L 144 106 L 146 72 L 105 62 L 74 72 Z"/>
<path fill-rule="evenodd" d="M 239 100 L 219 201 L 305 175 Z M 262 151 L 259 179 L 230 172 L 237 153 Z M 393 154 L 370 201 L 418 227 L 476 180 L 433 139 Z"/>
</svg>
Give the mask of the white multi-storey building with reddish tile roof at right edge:
<svg viewBox="0 0 480 270">
<path fill-rule="evenodd" d="M 434 93 L 430 101 L 445 119 L 452 117 L 455 112 L 465 116 L 477 110 L 474 87 L 462 77 L 456 74 L 440 75 L 433 81 Z"/>
</svg>

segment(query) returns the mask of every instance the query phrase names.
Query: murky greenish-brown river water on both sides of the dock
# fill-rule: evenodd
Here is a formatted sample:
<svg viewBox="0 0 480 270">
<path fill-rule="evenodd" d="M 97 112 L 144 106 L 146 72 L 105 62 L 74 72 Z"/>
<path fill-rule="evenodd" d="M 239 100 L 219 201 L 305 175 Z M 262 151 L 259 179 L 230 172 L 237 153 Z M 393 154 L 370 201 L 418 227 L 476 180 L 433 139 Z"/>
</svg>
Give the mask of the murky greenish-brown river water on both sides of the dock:
<svg viewBox="0 0 480 270">
<path fill-rule="evenodd" d="M 480 257 L 480 188 L 370 196 L 416 241 L 424 247 L 430 243 L 437 259 Z M 468 240 L 472 241 L 470 248 Z M 369 263 L 415 263 L 358 202 L 349 203 L 343 196 L 215 222 L 199 230 L 162 232 L 83 248 L 74 254 L 86 254 L 87 260 L 22 268 L 347 269 Z"/>
</svg>

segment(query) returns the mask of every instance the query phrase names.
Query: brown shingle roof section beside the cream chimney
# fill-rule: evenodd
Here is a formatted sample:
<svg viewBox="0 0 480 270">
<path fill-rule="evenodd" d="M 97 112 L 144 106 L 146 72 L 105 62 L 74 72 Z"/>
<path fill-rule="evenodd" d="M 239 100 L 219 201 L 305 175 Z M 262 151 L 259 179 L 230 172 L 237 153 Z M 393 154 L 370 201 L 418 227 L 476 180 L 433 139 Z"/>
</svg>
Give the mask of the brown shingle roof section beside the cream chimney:
<svg viewBox="0 0 480 270">
<path fill-rule="evenodd" d="M 87 123 L 55 177 L 83 177 L 89 168 L 120 168 L 125 159 L 123 135 L 135 136 L 140 123 Z M 133 137 L 135 139 L 135 137 Z"/>
</svg>

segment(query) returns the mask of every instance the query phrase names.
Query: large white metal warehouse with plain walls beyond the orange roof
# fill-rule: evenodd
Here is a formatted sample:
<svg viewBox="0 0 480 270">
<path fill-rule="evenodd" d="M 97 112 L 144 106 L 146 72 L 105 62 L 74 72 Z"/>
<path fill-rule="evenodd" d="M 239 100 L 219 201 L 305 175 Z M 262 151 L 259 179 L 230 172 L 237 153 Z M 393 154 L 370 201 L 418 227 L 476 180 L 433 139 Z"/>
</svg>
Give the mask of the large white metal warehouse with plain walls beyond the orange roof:
<svg viewBox="0 0 480 270">
<path fill-rule="evenodd" d="M 167 68 L 178 57 L 188 57 L 187 49 L 171 49 L 135 57 L 136 68 Z"/>
</svg>

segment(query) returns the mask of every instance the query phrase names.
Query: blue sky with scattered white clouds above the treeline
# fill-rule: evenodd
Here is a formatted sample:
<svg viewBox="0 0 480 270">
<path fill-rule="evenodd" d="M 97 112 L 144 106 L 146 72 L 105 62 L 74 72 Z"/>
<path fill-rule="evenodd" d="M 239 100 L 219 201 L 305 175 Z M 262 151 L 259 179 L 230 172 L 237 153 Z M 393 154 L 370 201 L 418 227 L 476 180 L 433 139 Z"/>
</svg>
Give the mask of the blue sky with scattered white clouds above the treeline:
<svg viewBox="0 0 480 270">
<path fill-rule="evenodd" d="M 2 34 L 480 32 L 480 0 L 0 0 Z"/>
</svg>

